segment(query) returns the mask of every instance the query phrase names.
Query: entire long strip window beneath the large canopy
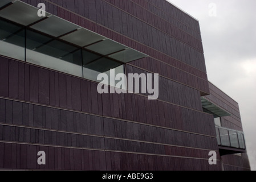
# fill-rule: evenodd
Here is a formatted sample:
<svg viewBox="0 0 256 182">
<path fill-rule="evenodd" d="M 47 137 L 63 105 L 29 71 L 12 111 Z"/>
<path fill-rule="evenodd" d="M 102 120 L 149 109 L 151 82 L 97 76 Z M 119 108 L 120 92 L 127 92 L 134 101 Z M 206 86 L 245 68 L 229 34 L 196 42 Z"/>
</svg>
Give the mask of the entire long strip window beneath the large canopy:
<svg viewBox="0 0 256 182">
<path fill-rule="evenodd" d="M 111 86 L 116 86 L 120 80 L 111 80 L 110 70 L 115 70 L 115 76 L 124 73 L 124 64 L 119 61 L 2 19 L 0 19 L 0 55 L 96 82 L 101 82 L 97 80 L 97 76 L 105 73 L 109 78 L 108 85 Z M 121 79 L 125 80 L 124 74 Z M 127 88 L 126 85 L 122 86 L 123 88 L 120 89 Z"/>
</svg>

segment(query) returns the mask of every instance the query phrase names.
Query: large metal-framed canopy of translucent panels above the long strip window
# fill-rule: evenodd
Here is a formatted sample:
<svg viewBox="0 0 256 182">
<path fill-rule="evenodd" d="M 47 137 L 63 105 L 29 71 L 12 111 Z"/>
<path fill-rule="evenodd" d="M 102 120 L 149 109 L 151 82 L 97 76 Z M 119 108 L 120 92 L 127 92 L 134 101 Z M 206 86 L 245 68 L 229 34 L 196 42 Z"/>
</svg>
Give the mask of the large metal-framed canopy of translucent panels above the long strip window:
<svg viewBox="0 0 256 182">
<path fill-rule="evenodd" d="M 0 16 L 12 22 L 64 40 L 122 63 L 148 57 L 145 53 L 117 43 L 86 28 L 46 13 L 38 16 L 38 8 L 21 1 L 1 0 Z"/>
</svg>

